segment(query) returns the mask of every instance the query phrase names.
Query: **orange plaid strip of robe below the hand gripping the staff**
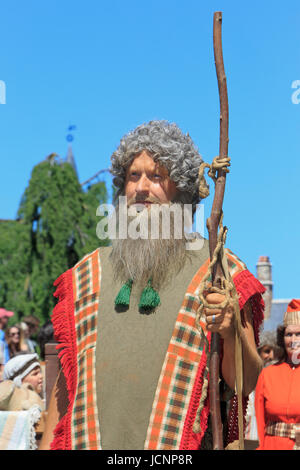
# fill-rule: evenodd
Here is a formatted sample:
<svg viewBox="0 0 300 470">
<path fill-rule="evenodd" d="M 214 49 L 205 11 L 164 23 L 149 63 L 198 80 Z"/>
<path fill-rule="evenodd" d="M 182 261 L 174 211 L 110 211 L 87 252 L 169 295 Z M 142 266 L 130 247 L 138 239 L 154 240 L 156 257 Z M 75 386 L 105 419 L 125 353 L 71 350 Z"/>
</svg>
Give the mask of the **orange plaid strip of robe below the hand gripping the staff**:
<svg viewBox="0 0 300 470">
<path fill-rule="evenodd" d="M 197 285 L 196 283 L 195 286 Z M 198 306 L 197 298 L 186 294 L 158 382 L 145 442 L 146 449 L 179 448 L 204 347 L 204 339 L 195 326 Z"/>
</svg>

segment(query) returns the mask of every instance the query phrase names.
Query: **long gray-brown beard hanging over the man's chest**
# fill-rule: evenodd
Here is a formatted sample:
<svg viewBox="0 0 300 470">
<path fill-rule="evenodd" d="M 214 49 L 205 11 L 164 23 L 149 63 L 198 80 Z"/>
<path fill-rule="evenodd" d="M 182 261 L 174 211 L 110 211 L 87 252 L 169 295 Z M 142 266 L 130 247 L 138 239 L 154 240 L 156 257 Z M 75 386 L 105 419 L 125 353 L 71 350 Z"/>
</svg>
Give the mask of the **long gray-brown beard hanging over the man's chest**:
<svg viewBox="0 0 300 470">
<path fill-rule="evenodd" d="M 144 216 L 148 217 L 150 232 L 149 212 L 144 211 Z M 149 237 L 112 241 L 110 259 L 116 280 L 124 283 L 132 279 L 137 289 L 142 290 L 151 279 L 152 286 L 159 289 L 183 268 L 188 256 L 186 239 L 184 236 L 179 239 L 174 238 L 172 222 L 170 236 L 167 239 L 161 237 L 159 230 L 158 239 Z"/>
</svg>

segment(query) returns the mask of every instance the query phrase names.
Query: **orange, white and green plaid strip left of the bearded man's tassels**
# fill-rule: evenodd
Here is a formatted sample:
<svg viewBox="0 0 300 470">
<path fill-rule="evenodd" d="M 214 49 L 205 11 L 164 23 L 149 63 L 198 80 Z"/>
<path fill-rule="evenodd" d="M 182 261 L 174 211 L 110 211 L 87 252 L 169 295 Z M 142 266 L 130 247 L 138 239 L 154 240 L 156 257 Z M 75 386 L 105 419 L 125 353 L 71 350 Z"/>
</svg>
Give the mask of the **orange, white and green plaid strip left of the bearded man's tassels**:
<svg viewBox="0 0 300 470">
<path fill-rule="evenodd" d="M 73 268 L 78 363 L 71 423 L 73 449 L 100 449 L 95 379 L 100 281 L 100 256 L 96 250 Z"/>
</svg>

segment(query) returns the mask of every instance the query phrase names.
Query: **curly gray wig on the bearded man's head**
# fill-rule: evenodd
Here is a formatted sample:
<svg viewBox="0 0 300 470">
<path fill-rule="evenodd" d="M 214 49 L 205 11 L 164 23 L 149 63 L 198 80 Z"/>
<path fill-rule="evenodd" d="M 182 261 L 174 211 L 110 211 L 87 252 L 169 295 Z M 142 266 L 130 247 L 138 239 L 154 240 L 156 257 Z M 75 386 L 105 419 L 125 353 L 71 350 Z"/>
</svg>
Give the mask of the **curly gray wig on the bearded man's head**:
<svg viewBox="0 0 300 470">
<path fill-rule="evenodd" d="M 180 191 L 181 202 L 192 204 L 195 210 L 200 201 L 198 171 L 202 158 L 190 136 L 184 135 L 176 124 L 168 121 L 142 124 L 121 139 L 111 156 L 110 171 L 117 188 L 115 200 L 124 194 L 127 168 L 143 150 L 167 168 L 171 180 Z"/>
</svg>

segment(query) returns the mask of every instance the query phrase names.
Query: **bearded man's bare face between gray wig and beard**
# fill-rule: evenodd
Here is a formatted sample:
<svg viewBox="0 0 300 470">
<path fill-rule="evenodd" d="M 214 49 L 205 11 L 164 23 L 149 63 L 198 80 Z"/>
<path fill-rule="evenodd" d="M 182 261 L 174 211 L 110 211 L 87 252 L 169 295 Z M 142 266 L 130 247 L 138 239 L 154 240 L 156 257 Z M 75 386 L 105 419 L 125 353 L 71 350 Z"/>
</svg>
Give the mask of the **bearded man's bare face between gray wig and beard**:
<svg viewBox="0 0 300 470">
<path fill-rule="evenodd" d="M 177 193 L 168 171 L 144 150 L 127 168 L 125 196 L 131 203 L 138 202 L 146 207 L 151 203 L 167 204 Z"/>
</svg>

